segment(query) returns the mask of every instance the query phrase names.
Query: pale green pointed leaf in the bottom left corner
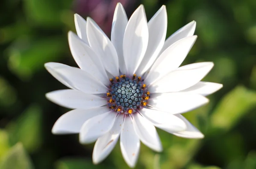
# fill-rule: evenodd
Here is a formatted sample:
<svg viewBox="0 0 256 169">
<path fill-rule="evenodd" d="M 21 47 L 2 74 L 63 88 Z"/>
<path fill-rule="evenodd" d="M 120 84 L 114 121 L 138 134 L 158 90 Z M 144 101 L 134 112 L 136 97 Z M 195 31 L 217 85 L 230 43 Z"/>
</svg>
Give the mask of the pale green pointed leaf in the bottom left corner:
<svg viewBox="0 0 256 169">
<path fill-rule="evenodd" d="M 10 149 L 3 158 L 0 169 L 33 169 L 29 156 L 21 143 L 17 143 Z"/>
</svg>

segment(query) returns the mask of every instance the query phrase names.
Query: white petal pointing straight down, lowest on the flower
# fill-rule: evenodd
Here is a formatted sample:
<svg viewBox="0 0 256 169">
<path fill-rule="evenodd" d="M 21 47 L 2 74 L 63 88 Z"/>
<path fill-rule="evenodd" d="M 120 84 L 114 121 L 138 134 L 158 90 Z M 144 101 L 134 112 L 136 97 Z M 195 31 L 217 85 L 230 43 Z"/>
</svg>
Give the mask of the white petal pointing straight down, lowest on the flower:
<svg viewBox="0 0 256 169">
<path fill-rule="evenodd" d="M 137 136 L 131 117 L 126 116 L 120 135 L 120 147 L 125 162 L 133 168 L 140 152 L 140 139 Z"/>
</svg>

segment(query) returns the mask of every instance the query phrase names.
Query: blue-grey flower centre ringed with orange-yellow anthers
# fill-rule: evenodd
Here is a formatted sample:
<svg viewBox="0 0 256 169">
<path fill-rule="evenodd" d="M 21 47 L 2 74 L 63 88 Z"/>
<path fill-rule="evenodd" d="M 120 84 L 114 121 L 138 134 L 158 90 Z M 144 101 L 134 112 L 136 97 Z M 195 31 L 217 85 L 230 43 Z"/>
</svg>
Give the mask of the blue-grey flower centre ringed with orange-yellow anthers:
<svg viewBox="0 0 256 169">
<path fill-rule="evenodd" d="M 106 93 L 108 106 L 117 113 L 131 114 L 147 105 L 150 93 L 140 76 L 116 76 L 110 79 L 109 92 Z"/>
</svg>

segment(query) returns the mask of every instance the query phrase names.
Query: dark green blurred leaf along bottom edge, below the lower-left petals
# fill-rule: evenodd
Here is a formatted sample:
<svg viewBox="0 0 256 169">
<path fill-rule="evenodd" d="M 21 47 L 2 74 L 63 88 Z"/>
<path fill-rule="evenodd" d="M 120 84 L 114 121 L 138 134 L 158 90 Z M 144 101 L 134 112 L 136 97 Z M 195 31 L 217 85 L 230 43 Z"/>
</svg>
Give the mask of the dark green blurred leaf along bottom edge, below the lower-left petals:
<svg viewBox="0 0 256 169">
<path fill-rule="evenodd" d="M 56 163 L 55 169 L 108 169 L 108 166 L 94 165 L 86 159 L 64 159 Z M 110 169 L 110 168 L 109 168 Z"/>
</svg>

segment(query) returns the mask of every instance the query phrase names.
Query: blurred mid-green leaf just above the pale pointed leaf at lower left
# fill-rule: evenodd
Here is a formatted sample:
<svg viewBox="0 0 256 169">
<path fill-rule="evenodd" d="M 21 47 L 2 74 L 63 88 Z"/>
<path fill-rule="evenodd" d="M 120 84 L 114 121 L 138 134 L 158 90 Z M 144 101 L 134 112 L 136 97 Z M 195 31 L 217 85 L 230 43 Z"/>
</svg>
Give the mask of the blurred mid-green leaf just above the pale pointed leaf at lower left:
<svg viewBox="0 0 256 169">
<path fill-rule="evenodd" d="M 8 126 L 12 144 L 21 142 L 29 152 L 35 152 L 42 143 L 42 112 L 37 105 L 28 107 L 20 117 Z"/>
</svg>

